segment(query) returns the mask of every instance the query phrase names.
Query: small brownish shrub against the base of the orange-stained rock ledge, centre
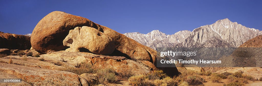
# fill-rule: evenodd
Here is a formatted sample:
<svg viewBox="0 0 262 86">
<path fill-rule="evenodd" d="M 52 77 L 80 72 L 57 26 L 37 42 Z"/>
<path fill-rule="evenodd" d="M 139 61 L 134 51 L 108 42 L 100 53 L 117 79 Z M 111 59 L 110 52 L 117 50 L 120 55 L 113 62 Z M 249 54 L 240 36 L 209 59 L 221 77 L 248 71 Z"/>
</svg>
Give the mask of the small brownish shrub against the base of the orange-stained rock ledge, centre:
<svg viewBox="0 0 262 86">
<path fill-rule="evenodd" d="M 124 79 L 124 80 L 127 80 L 129 77 L 133 76 L 133 72 L 131 71 L 131 69 L 122 69 L 122 70 L 119 70 L 119 72 L 117 73 L 117 75 Z"/>
</svg>

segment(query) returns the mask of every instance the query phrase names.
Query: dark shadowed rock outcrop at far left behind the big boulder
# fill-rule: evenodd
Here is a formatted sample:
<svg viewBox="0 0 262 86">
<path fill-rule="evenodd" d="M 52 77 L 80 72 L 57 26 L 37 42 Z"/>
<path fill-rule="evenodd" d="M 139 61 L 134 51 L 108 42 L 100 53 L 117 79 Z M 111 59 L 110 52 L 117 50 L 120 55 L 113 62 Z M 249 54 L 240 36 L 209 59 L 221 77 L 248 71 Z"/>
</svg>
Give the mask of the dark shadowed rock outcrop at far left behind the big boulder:
<svg viewBox="0 0 262 86">
<path fill-rule="evenodd" d="M 0 48 L 27 50 L 30 47 L 30 36 L 0 32 Z"/>
</svg>

